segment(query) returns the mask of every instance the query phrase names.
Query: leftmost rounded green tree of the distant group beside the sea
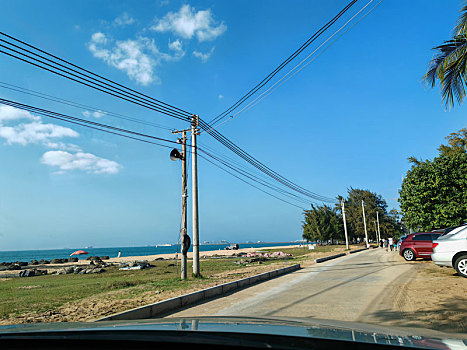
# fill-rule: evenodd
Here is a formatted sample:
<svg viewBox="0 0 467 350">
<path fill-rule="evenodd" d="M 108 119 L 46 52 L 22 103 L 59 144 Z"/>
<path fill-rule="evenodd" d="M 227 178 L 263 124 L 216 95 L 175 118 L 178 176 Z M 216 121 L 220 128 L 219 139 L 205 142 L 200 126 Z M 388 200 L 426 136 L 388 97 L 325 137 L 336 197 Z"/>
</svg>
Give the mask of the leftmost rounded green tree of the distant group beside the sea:
<svg viewBox="0 0 467 350">
<path fill-rule="evenodd" d="M 303 238 L 307 241 L 325 242 L 343 238 L 342 219 L 335 209 L 327 205 L 312 205 L 310 210 L 304 211 L 304 217 Z"/>
</svg>

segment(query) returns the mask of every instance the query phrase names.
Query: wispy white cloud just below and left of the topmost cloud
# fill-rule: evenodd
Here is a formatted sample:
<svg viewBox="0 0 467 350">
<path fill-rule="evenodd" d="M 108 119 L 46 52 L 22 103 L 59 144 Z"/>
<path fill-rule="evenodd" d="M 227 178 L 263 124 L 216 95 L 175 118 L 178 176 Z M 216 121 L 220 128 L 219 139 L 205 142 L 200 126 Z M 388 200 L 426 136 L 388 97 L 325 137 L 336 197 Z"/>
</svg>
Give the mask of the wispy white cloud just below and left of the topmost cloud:
<svg viewBox="0 0 467 350">
<path fill-rule="evenodd" d="M 112 45 L 110 49 L 107 48 L 108 44 Z M 171 49 L 176 50 L 174 55 L 160 52 L 153 39 L 139 37 L 136 40 L 114 42 L 97 32 L 92 35 L 88 48 L 94 57 L 124 71 L 130 79 L 141 85 L 149 85 L 160 82 L 154 72 L 157 66 L 163 61 L 179 60 L 185 54 L 181 50 L 181 43 L 171 44 Z"/>
</svg>

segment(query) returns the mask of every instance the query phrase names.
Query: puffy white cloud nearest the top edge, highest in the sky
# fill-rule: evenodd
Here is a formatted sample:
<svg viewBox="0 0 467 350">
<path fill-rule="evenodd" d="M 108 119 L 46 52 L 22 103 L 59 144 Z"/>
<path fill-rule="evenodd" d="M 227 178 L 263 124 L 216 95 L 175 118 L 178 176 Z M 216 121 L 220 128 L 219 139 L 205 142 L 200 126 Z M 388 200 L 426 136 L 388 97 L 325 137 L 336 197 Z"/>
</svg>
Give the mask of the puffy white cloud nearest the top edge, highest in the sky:
<svg viewBox="0 0 467 350">
<path fill-rule="evenodd" d="M 156 32 L 172 32 L 184 39 L 196 36 L 198 41 L 214 40 L 222 35 L 227 26 L 221 22 L 217 25 L 211 10 L 195 12 L 190 5 L 183 5 L 178 12 L 169 12 L 150 27 Z"/>
</svg>

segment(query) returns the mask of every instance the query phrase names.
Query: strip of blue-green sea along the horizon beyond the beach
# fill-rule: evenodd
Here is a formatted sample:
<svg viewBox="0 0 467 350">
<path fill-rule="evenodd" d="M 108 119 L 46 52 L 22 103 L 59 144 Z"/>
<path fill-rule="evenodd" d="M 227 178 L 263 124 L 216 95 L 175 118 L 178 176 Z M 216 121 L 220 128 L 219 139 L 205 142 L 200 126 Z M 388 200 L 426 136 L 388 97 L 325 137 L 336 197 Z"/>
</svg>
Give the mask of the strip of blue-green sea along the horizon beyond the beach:
<svg viewBox="0 0 467 350">
<path fill-rule="evenodd" d="M 261 243 L 239 243 L 239 248 L 263 248 L 297 245 L 299 242 L 261 242 Z M 210 250 L 224 250 L 230 243 L 222 244 L 200 244 L 200 252 Z M 0 251 L 0 262 L 15 262 L 15 261 L 31 261 L 35 260 L 52 260 L 69 258 L 70 254 L 84 250 L 87 255 L 75 255 L 78 259 L 86 259 L 88 256 L 109 256 L 116 258 L 118 252 L 121 252 L 120 257 L 125 256 L 144 256 L 155 254 L 174 254 L 180 252 L 179 245 L 161 245 L 161 246 L 145 246 L 145 247 L 111 247 L 111 248 L 64 248 L 64 249 L 44 249 L 44 250 L 16 250 L 16 251 Z M 193 251 L 193 247 L 190 248 Z"/>
</svg>

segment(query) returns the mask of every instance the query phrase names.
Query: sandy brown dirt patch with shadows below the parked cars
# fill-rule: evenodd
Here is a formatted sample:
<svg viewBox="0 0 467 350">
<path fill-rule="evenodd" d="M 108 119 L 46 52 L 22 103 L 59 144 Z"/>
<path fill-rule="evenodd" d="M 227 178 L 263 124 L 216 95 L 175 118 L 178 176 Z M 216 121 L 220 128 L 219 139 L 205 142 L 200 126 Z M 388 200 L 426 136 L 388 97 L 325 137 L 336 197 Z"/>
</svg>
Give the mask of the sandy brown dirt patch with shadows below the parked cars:
<svg viewBox="0 0 467 350">
<path fill-rule="evenodd" d="M 414 269 L 394 282 L 373 322 L 466 333 L 467 278 L 429 260 L 411 264 Z"/>
</svg>

